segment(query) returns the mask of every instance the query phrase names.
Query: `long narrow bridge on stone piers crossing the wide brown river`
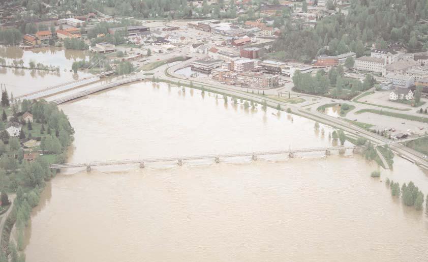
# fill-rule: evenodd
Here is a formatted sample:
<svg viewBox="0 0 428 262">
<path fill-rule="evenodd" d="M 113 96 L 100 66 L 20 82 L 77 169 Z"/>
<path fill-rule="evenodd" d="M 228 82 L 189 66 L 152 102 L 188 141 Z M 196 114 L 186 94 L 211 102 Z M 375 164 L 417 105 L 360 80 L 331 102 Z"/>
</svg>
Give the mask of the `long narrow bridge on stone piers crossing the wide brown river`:
<svg viewBox="0 0 428 262">
<path fill-rule="evenodd" d="M 110 160 L 110 161 L 97 161 L 90 163 L 66 163 L 66 164 L 53 164 L 49 167 L 51 169 L 63 169 L 72 167 L 86 167 L 86 171 L 90 171 L 92 166 L 108 166 L 108 165 L 125 165 L 125 164 L 140 164 L 140 168 L 144 168 L 144 163 L 153 162 L 168 162 L 177 161 L 178 165 L 182 165 L 184 160 L 200 160 L 200 159 L 213 159 L 216 163 L 220 162 L 220 158 L 229 157 L 243 157 L 250 156 L 253 160 L 257 160 L 257 156 L 263 155 L 284 155 L 288 154 L 290 158 L 294 157 L 297 153 L 308 152 L 325 152 L 329 156 L 331 151 L 353 150 L 354 153 L 359 153 L 366 148 L 366 145 L 357 147 L 327 147 L 327 148 L 308 148 L 308 149 L 293 149 L 293 150 L 280 150 L 280 151 L 260 151 L 260 152 L 244 152 L 244 153 L 230 153 L 230 154 L 213 154 L 213 155 L 195 155 L 195 156 L 176 156 L 176 157 L 161 157 L 161 158 L 146 158 L 146 159 L 125 159 L 125 160 Z"/>
</svg>

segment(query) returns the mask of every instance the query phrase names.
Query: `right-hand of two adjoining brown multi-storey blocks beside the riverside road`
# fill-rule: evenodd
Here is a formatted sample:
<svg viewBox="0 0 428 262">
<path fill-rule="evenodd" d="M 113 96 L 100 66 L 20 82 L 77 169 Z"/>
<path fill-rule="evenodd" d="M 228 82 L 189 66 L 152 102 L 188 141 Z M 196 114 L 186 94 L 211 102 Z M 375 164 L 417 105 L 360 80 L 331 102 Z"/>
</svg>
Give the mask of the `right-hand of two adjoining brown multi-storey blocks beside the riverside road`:
<svg viewBox="0 0 428 262">
<path fill-rule="evenodd" d="M 279 85 L 278 76 L 256 72 L 237 73 L 236 82 L 248 88 L 274 88 Z"/>
</svg>

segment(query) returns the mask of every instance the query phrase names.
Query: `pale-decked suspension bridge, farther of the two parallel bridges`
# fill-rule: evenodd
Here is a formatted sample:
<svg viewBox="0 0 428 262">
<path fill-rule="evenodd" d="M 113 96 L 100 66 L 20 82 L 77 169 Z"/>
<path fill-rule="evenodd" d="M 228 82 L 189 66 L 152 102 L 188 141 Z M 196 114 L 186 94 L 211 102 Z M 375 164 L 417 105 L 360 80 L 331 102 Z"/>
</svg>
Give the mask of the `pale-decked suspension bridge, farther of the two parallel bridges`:
<svg viewBox="0 0 428 262">
<path fill-rule="evenodd" d="M 98 75 L 93 75 L 93 76 L 85 77 L 82 79 L 77 79 L 77 80 L 73 80 L 73 81 L 49 86 L 48 88 L 45 88 L 45 89 L 42 89 L 42 90 L 39 90 L 39 91 L 36 91 L 33 93 L 29 93 L 29 94 L 26 94 L 23 96 L 16 97 L 16 99 L 17 100 L 23 100 L 23 99 L 32 100 L 32 99 L 39 99 L 39 98 L 51 96 L 51 95 L 54 95 L 54 94 L 57 94 L 60 92 L 65 92 L 65 91 L 69 91 L 69 90 L 74 89 L 74 88 L 78 88 L 79 86 L 82 86 L 85 84 L 97 82 L 98 80 L 100 80 L 101 77 L 111 75 L 114 72 L 115 72 L 114 70 L 111 70 L 111 71 L 103 72 L 103 73 L 98 74 Z"/>
</svg>

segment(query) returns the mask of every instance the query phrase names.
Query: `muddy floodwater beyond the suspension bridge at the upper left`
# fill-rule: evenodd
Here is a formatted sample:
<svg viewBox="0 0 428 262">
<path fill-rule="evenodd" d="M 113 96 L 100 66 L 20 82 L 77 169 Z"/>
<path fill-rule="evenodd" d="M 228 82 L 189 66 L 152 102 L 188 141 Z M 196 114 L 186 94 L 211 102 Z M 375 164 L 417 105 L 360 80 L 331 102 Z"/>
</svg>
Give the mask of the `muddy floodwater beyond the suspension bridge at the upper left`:
<svg viewBox="0 0 428 262">
<path fill-rule="evenodd" d="M 55 47 L 22 50 L 18 47 L 0 47 L 0 57 L 6 60 L 7 65 L 11 65 L 14 60 L 22 60 L 26 67 L 30 61 L 45 66 L 59 67 L 59 72 L 57 72 L 0 66 L 0 78 L 2 79 L 0 82 L 6 84 L 8 92 L 13 92 L 15 97 L 91 75 L 83 71 L 79 71 L 77 74 L 70 72 L 74 61 L 89 59 L 89 56 L 80 50 L 65 50 Z"/>
</svg>

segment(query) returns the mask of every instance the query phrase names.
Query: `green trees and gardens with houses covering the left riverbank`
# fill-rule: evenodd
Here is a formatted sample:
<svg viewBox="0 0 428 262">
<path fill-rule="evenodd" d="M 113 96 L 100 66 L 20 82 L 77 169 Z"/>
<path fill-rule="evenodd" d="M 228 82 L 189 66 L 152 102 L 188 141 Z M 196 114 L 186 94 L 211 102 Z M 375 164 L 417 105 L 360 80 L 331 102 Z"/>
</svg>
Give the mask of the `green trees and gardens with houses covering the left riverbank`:
<svg viewBox="0 0 428 262">
<path fill-rule="evenodd" d="M 7 103 L 3 103 L 5 97 L 2 104 L 7 107 Z M 23 256 L 17 250 L 23 249 L 23 232 L 30 212 L 37 206 L 45 182 L 55 174 L 49 164 L 65 161 L 74 130 L 54 103 L 23 100 L 13 104 L 11 110 L 6 107 L 3 107 L 4 117 L 0 121 L 0 191 L 16 192 L 16 198 L 2 232 L 1 250 L 17 259 L 14 261 L 22 261 Z M 32 115 L 33 122 L 23 120 L 24 112 Z M 10 137 L 5 130 L 7 126 L 21 128 L 19 137 Z M 9 243 L 13 225 L 17 229 L 17 246 Z"/>
</svg>

